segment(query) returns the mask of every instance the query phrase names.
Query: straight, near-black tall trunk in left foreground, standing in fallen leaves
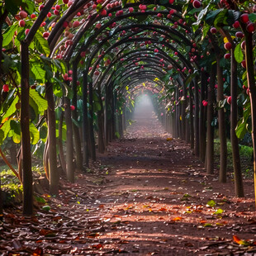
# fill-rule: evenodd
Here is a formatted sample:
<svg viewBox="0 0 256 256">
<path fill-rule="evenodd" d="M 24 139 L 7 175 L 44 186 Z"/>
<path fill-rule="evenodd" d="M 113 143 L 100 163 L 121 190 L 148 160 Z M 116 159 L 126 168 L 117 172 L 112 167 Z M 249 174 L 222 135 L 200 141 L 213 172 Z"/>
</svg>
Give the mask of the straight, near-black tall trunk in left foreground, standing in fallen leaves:
<svg viewBox="0 0 256 256">
<path fill-rule="evenodd" d="M 23 214 L 33 214 L 33 186 L 31 169 L 31 135 L 29 115 L 29 50 L 28 42 L 21 41 L 21 145 L 23 169 Z"/>
</svg>

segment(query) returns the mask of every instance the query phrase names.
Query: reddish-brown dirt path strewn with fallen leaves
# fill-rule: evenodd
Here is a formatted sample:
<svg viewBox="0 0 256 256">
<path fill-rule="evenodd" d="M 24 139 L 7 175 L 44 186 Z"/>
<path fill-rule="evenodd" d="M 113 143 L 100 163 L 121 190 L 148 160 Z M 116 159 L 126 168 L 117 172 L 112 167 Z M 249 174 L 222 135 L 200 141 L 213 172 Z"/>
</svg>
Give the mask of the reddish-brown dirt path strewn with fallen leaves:
<svg viewBox="0 0 256 256">
<path fill-rule="evenodd" d="M 6 209 L 2 255 L 254 255 L 253 181 L 235 197 L 231 173 L 225 184 L 206 175 L 151 111 L 135 120 L 77 183 L 42 196 L 50 211 Z"/>
</svg>

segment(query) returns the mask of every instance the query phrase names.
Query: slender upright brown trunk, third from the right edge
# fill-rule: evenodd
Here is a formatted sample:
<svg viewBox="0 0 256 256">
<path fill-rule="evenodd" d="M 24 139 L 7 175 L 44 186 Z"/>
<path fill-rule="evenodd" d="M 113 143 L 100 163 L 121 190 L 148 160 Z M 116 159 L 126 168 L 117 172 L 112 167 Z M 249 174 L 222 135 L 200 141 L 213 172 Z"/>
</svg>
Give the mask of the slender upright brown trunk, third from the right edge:
<svg viewBox="0 0 256 256">
<path fill-rule="evenodd" d="M 223 89 L 223 69 L 220 67 L 220 56 L 216 57 L 217 60 L 217 102 L 224 100 Z M 220 183 L 226 183 L 226 167 L 227 167 L 227 146 L 225 135 L 225 112 L 224 107 L 219 107 L 218 110 L 219 121 L 219 137 L 220 137 Z"/>
</svg>

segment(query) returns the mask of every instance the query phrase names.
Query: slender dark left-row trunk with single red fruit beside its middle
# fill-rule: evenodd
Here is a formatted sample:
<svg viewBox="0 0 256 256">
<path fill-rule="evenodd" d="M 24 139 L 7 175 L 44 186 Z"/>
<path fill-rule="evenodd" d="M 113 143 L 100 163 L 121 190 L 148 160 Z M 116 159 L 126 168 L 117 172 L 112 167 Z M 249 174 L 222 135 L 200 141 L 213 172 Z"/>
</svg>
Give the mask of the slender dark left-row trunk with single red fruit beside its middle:
<svg viewBox="0 0 256 256">
<path fill-rule="evenodd" d="M 72 79 L 72 89 L 73 89 L 73 99 L 72 104 L 74 110 L 72 111 L 72 117 L 74 121 L 78 121 L 78 66 L 74 62 L 73 63 L 73 79 Z M 81 149 L 81 139 L 79 134 L 79 127 L 73 123 L 73 136 L 74 136 L 74 147 L 75 147 L 75 157 L 76 157 L 76 165 L 78 170 L 83 170 L 83 156 Z"/>
</svg>

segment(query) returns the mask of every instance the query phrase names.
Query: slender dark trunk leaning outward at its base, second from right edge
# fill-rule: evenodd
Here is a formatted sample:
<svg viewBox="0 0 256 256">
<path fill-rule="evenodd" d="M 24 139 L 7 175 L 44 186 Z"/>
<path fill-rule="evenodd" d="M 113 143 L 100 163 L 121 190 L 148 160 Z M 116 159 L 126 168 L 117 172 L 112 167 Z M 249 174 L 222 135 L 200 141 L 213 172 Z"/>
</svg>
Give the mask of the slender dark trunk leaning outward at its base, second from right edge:
<svg viewBox="0 0 256 256">
<path fill-rule="evenodd" d="M 233 48 L 231 50 L 231 113 L 230 113 L 230 137 L 232 145 L 232 156 L 233 156 L 233 166 L 235 173 L 235 195 L 237 197 L 244 197 L 244 186 L 243 186 L 243 176 L 240 164 L 240 154 L 239 154 L 239 144 L 238 138 L 235 134 L 235 128 L 237 126 L 237 62 L 235 60 Z"/>
</svg>

